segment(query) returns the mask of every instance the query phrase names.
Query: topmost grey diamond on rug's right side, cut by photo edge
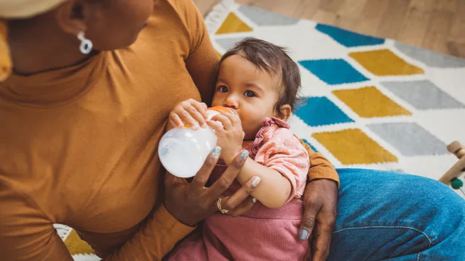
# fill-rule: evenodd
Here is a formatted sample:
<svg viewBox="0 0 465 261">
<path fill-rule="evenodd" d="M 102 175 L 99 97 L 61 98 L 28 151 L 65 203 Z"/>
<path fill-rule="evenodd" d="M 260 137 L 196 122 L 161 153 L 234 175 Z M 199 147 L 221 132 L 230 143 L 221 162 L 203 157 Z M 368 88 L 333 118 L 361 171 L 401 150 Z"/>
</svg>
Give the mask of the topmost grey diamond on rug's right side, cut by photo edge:
<svg viewBox="0 0 465 261">
<path fill-rule="evenodd" d="M 411 57 L 420 62 L 432 67 L 449 68 L 449 67 L 465 67 L 465 60 L 457 57 L 443 55 L 439 52 L 433 52 L 423 48 L 417 48 L 411 45 L 395 42 L 397 50 L 400 50 L 408 57 Z"/>
</svg>

